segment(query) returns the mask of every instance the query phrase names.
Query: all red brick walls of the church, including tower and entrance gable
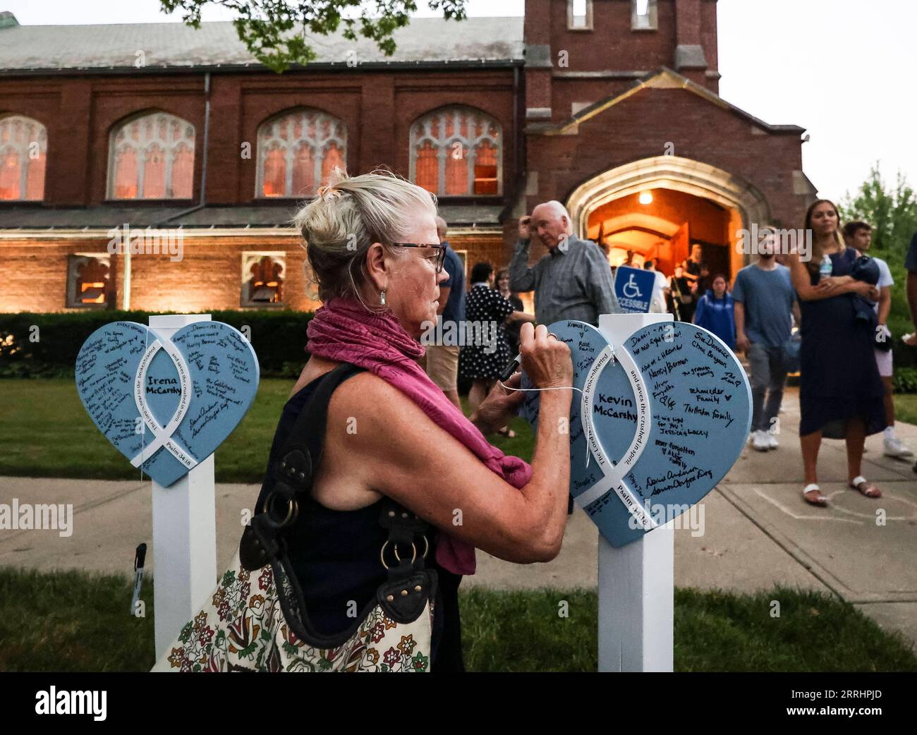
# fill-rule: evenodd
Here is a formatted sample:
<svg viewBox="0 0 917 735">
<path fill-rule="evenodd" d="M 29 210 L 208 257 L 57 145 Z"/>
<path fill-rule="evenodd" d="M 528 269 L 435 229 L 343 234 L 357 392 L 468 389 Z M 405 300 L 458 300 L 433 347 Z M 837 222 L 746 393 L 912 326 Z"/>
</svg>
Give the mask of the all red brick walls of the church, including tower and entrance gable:
<svg viewBox="0 0 917 735">
<path fill-rule="evenodd" d="M 695 40 L 699 31 L 708 66 L 715 70 L 715 0 L 659 0 L 655 31 L 631 29 L 630 0 L 595 0 L 594 29 L 588 32 L 568 30 L 566 0 L 526 0 L 526 42 L 549 44 L 555 68 L 526 70 L 521 75 L 518 99 L 514 98 L 511 68 L 289 71 L 281 76 L 260 71 L 215 73 L 211 78 L 206 200 L 215 204 L 257 201 L 257 130 L 262 122 L 284 110 L 314 106 L 343 120 L 348 126 L 347 163 L 351 172 L 387 166 L 407 176 L 412 122 L 444 104 L 469 104 L 493 115 L 504 134 L 503 195 L 478 202 L 515 204 L 515 184 L 527 169 L 537 174 L 536 193 L 521 197 L 525 211 L 531 212 L 536 203 L 566 201 L 578 185 L 602 171 L 661 155 L 670 142 L 676 156 L 709 163 L 753 184 L 767 199 L 774 219 L 784 226 L 800 226 L 806 201 L 793 189 L 793 171 L 801 170 L 799 137 L 795 133 L 768 133 L 684 90 L 645 89 L 580 124 L 575 135 L 522 132 L 525 121 L 516 120 L 514 115 L 514 105 L 523 104 L 522 100 L 529 106 L 550 104 L 555 120 L 567 119 L 572 103 L 595 102 L 624 92 L 633 83 L 569 78 L 558 76 L 560 71 L 673 66 L 679 33 L 677 11 L 682 5 L 687 8 L 679 11 L 683 13 L 683 38 Z M 563 70 L 557 66 L 560 49 L 569 53 L 569 66 Z M 702 83 L 716 89 L 713 79 Z M 150 108 L 179 115 L 195 126 L 194 201 L 200 196 L 204 137 L 201 73 L 6 77 L 0 79 L 0 100 L 2 112 L 28 115 L 48 127 L 48 205 L 105 203 L 110 132 L 127 116 Z M 525 146 L 525 161 L 515 165 L 519 137 L 524 138 L 518 147 Z M 240 155 L 245 142 L 252 144 L 250 159 Z M 460 200 L 444 198 L 443 203 Z M 0 203 L 0 210 L 3 206 Z M 696 230 L 693 234 L 700 237 Z M 512 257 L 516 220 L 507 218 L 502 233 L 497 228 L 477 233 L 456 230 L 449 239 L 456 249 L 468 250 L 469 268 L 481 259 L 501 267 Z M 717 241 L 713 236 L 703 239 Z M 16 274 L 0 293 L 0 311 L 63 309 L 66 255 L 89 251 L 92 245 L 85 239 L 0 240 L 0 255 Z M 97 240 L 94 247 L 103 251 L 105 240 Z M 182 310 L 238 308 L 241 252 L 249 249 L 284 250 L 286 301 L 295 308 L 314 307 L 315 302 L 305 295 L 303 254 L 293 236 L 188 236 L 185 259 L 180 264 L 154 266 L 135 258 L 132 305 Z M 533 260 L 543 254 L 543 247 L 532 247 Z M 114 265 L 117 269 L 117 258 Z"/>
</svg>

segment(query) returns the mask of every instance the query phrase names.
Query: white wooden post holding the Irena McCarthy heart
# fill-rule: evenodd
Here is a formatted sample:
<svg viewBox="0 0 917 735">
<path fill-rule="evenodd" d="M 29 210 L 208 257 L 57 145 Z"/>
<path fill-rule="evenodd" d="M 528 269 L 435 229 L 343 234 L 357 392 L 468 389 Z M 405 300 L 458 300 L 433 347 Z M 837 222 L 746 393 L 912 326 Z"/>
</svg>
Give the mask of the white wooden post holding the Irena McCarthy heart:
<svg viewBox="0 0 917 735">
<path fill-rule="evenodd" d="M 171 337 L 210 314 L 150 316 L 149 328 Z M 216 584 L 214 455 L 171 487 L 153 480 L 153 564 L 156 658 L 191 620 Z"/>
</svg>

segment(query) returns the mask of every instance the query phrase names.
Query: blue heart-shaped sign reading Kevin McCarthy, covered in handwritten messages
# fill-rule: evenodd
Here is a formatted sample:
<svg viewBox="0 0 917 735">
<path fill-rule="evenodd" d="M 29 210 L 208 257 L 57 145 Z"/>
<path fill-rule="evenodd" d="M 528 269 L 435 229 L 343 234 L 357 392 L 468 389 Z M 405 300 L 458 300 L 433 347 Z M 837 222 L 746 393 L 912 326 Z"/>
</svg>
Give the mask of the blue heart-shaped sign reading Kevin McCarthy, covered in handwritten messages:
<svg viewBox="0 0 917 735">
<path fill-rule="evenodd" d="M 751 424 L 745 371 L 694 324 L 641 327 L 624 344 L 591 324 L 551 324 L 570 348 L 570 495 L 613 546 L 690 510 L 742 453 Z M 524 389 L 532 387 L 526 376 Z M 536 426 L 537 391 L 523 415 Z"/>
</svg>

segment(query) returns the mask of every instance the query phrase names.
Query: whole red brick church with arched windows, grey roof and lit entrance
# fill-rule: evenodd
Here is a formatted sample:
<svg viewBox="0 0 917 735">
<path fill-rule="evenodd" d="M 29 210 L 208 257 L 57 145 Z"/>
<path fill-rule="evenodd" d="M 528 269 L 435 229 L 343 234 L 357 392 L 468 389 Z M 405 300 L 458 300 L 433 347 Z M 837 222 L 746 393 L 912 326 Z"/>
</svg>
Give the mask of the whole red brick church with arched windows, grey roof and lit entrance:
<svg viewBox="0 0 917 735">
<path fill-rule="evenodd" d="M 277 75 L 230 23 L 0 13 L 0 312 L 314 308 L 289 222 L 334 165 L 436 192 L 468 268 L 558 199 L 613 264 L 700 243 L 732 275 L 738 230 L 800 226 L 814 189 L 800 127 L 719 97 L 716 34 L 715 0 L 526 0 Z"/>
</svg>

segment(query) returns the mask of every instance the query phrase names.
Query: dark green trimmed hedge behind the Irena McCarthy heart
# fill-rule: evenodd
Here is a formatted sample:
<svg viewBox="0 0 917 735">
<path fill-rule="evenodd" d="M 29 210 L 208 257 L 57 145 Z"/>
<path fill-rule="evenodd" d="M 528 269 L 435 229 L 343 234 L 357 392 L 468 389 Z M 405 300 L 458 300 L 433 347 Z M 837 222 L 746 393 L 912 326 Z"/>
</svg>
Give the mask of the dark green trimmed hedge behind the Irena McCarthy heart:
<svg viewBox="0 0 917 735">
<path fill-rule="evenodd" d="M 296 378 L 303 369 L 312 312 L 213 311 L 215 322 L 250 329 L 265 378 Z M 104 324 L 149 324 L 150 312 L 0 313 L 0 378 L 68 378 L 86 338 Z M 36 329 L 37 327 L 37 329 Z M 244 334 L 244 332 L 243 332 Z M 37 337 L 37 339 L 36 339 Z"/>
</svg>

